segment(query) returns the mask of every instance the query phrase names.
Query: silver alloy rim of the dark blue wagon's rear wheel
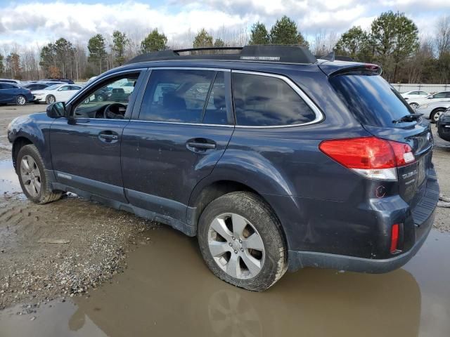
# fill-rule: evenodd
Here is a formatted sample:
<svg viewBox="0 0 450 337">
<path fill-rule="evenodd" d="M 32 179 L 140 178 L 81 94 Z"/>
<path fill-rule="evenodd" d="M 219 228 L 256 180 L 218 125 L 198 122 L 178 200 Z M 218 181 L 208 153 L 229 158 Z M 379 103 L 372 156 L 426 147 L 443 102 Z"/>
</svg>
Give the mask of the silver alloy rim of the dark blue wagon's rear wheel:
<svg viewBox="0 0 450 337">
<path fill-rule="evenodd" d="M 208 246 L 221 270 L 236 279 L 255 277 L 264 265 L 261 236 L 250 221 L 238 214 L 221 214 L 212 220 Z"/>
</svg>

